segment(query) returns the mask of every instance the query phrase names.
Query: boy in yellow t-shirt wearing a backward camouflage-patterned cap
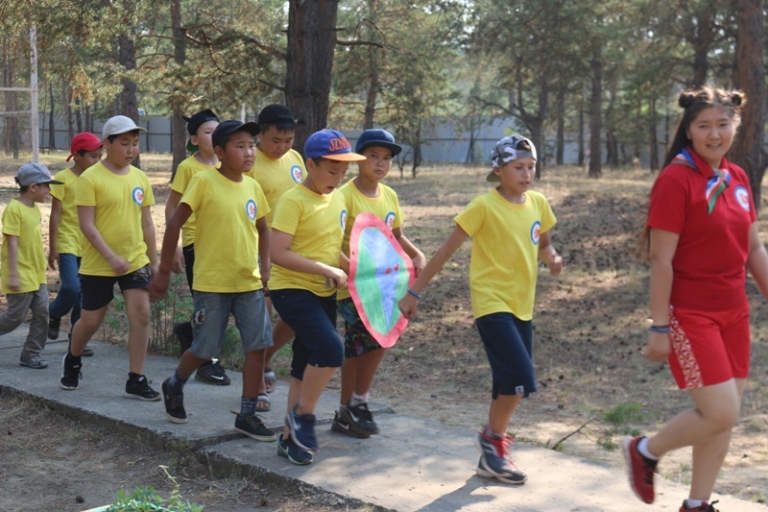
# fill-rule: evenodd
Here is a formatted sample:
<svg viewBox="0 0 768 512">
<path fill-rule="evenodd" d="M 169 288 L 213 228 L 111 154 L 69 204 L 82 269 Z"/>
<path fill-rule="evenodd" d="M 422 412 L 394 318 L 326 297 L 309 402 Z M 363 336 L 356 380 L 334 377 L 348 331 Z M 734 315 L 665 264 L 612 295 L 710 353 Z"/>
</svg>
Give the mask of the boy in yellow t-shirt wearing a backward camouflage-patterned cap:
<svg viewBox="0 0 768 512">
<path fill-rule="evenodd" d="M 533 300 L 537 258 L 553 276 L 560 273 L 549 234 L 555 215 L 543 195 L 531 190 L 536 148 L 520 135 L 504 137 L 491 154 L 488 181 L 501 181 L 478 196 L 456 216 L 453 232 L 432 256 L 408 294 L 400 301 L 406 318 L 416 313 L 417 300 L 430 279 L 468 237 L 473 237 L 469 265 L 472 312 L 493 376 L 488 423 L 478 432 L 476 472 L 510 484 L 527 476 L 512 462 L 507 434 L 509 420 L 524 396 L 536 391 L 533 372 Z"/>
</svg>

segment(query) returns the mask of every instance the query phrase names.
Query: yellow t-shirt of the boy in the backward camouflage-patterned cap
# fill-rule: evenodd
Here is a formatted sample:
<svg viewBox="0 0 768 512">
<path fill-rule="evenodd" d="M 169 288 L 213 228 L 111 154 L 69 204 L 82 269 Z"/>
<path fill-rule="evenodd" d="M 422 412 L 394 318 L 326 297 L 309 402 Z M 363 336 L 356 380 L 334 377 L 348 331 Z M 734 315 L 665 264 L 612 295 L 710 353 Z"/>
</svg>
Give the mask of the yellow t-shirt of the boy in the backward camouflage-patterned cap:
<svg viewBox="0 0 768 512">
<path fill-rule="evenodd" d="M 454 221 L 473 237 L 469 288 L 475 318 L 512 313 L 531 320 L 539 235 L 557 222 L 546 198 L 528 191 L 525 203 L 512 204 L 494 189 L 474 198 Z"/>
</svg>

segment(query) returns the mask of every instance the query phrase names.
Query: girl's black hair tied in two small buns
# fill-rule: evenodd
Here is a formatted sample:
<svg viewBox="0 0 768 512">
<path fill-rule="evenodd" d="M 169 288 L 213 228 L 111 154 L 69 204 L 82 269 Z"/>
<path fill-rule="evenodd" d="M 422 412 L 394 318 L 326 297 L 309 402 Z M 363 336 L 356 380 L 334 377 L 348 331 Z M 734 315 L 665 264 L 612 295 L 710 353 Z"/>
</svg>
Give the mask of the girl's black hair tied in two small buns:
<svg viewBox="0 0 768 512">
<path fill-rule="evenodd" d="M 702 110 L 721 107 L 738 127 L 741 123 L 741 110 L 746 103 L 747 97 L 741 91 L 726 91 L 708 85 L 694 87 L 680 93 L 677 104 L 683 108 L 683 115 L 680 116 L 675 127 L 675 135 L 667 148 L 662 168 L 668 166 L 686 146 L 691 145 L 688 128 Z"/>
</svg>

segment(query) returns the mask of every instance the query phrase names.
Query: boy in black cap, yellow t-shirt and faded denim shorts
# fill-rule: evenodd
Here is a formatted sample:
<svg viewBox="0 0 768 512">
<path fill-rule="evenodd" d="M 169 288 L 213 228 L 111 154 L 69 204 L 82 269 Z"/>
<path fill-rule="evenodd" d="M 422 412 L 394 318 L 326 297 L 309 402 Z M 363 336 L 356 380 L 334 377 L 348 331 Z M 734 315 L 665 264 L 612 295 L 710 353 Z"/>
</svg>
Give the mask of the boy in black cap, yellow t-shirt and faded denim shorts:
<svg viewBox="0 0 768 512">
<path fill-rule="evenodd" d="M 272 344 L 263 290 L 269 279 L 269 228 L 264 218 L 269 206 L 259 184 L 243 176 L 253 165 L 257 133 L 255 123 L 224 121 L 216 127 L 212 141 L 221 166 L 199 172 L 190 181 L 168 222 L 160 269 L 150 290 L 154 297 L 165 295 L 179 230 L 195 212 L 194 336 L 173 376 L 163 382 L 166 417 L 172 423 L 187 422 L 184 384 L 201 364 L 219 354 L 231 314 L 245 350 L 235 430 L 258 441 L 274 441 L 274 433 L 256 414 L 264 350 Z M 266 263 L 262 273 L 258 256 Z"/>
</svg>

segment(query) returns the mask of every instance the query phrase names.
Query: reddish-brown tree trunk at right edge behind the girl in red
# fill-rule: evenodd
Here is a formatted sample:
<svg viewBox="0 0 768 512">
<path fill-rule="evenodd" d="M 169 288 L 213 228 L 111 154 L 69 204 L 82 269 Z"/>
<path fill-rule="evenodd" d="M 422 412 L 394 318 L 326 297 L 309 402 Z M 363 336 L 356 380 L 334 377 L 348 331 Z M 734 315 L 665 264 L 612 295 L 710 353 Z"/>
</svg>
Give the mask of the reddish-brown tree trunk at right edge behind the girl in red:
<svg viewBox="0 0 768 512">
<path fill-rule="evenodd" d="M 763 2 L 739 0 L 737 73 L 741 90 L 747 95 L 747 107 L 742 112 L 741 127 L 731 147 L 729 158 L 747 172 L 752 186 L 755 209 L 760 209 L 760 184 L 765 174 L 763 149 L 765 135 L 766 87 L 763 64 Z"/>
</svg>

